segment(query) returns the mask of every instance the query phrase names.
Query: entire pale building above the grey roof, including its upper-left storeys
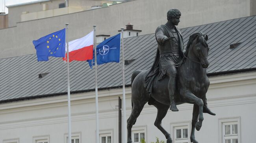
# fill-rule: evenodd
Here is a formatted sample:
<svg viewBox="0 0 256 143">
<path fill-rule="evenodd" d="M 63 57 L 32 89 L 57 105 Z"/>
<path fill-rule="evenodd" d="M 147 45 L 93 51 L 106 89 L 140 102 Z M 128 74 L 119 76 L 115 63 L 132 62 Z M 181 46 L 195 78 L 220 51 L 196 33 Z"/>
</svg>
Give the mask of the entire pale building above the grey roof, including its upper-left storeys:
<svg viewBox="0 0 256 143">
<path fill-rule="evenodd" d="M 110 6 L 106 2 L 115 1 L 69 0 L 69 7 L 64 8 L 59 8 L 64 0 L 7 6 L 9 28 L 0 29 L 0 58 L 34 54 L 32 41 L 63 29 L 65 23 L 69 23 L 69 40 L 74 40 L 91 32 L 93 25 L 97 25 L 97 35 L 113 36 L 129 22 L 142 30 L 140 34 L 151 34 L 165 24 L 171 8 L 182 12 L 179 28 L 256 14 L 256 0 L 132 0 Z M 95 5 L 102 7 L 90 9 Z"/>
</svg>

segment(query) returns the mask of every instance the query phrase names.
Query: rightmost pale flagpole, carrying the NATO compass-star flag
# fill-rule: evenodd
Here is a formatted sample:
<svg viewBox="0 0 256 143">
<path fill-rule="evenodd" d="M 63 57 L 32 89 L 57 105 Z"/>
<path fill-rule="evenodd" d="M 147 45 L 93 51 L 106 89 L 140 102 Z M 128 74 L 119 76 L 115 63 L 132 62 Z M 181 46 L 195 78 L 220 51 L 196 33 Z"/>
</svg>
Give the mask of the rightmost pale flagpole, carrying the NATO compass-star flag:
<svg viewBox="0 0 256 143">
<path fill-rule="evenodd" d="M 126 102 L 125 102 L 125 82 L 124 82 L 124 28 L 121 28 L 122 31 L 122 110 L 124 114 L 124 129 L 123 129 L 123 143 L 126 141 Z"/>
</svg>

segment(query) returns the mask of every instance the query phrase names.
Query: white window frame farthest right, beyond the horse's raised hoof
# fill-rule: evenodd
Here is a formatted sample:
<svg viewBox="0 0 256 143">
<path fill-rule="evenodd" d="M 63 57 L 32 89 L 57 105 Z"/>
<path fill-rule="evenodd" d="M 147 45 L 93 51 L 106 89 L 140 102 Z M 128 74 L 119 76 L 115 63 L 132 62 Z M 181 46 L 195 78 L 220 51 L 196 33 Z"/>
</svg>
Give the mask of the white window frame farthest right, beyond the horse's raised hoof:
<svg viewBox="0 0 256 143">
<path fill-rule="evenodd" d="M 241 117 L 228 117 L 219 118 L 219 143 L 225 143 L 225 139 L 237 139 L 238 143 L 241 143 Z M 230 135 L 225 135 L 225 125 L 237 124 L 237 134 L 232 134 L 230 130 Z M 232 127 L 230 127 L 232 129 Z"/>
</svg>

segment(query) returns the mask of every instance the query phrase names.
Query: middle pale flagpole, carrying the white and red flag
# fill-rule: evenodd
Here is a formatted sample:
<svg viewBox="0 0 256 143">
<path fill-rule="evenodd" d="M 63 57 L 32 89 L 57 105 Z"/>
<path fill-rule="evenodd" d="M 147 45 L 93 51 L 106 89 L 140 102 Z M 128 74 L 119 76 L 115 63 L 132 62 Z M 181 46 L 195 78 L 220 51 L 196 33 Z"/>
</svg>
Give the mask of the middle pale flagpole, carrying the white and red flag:
<svg viewBox="0 0 256 143">
<path fill-rule="evenodd" d="M 95 61 L 95 103 L 96 103 L 96 143 L 100 143 L 99 136 L 99 111 L 98 111 L 98 85 L 97 85 L 97 47 L 96 47 L 96 25 L 93 25 L 93 45 Z"/>
</svg>

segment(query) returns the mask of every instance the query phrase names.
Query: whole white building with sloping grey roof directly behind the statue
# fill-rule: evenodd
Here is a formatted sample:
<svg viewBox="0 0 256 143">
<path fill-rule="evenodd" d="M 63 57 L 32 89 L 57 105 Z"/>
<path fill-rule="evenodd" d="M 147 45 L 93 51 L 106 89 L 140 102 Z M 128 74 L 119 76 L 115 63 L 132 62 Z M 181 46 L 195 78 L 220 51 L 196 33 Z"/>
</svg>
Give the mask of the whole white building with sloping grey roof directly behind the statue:
<svg viewBox="0 0 256 143">
<path fill-rule="evenodd" d="M 185 46 L 192 33 L 202 31 L 209 36 L 210 66 L 207 73 L 210 87 L 207 99 L 208 106 L 216 116 L 204 114 L 203 126 L 195 133 L 199 142 L 254 142 L 255 25 L 256 16 L 249 16 L 181 29 Z M 132 73 L 150 68 L 156 45 L 154 34 L 124 39 L 125 59 L 130 61 L 125 62 L 126 119 L 132 110 Z M 0 60 L 0 143 L 67 142 L 66 66 L 59 58 L 37 62 L 35 54 Z M 71 123 L 75 143 L 95 142 L 94 74 L 86 62 L 70 63 Z M 121 87 L 120 65 L 99 65 L 100 143 L 117 143 L 121 138 Z M 170 132 L 174 143 L 188 143 L 193 105 L 178 105 L 178 109 L 179 112 L 168 111 L 162 125 Z M 156 113 L 154 106 L 145 105 L 132 128 L 134 143 L 139 143 L 142 138 L 147 143 L 156 141 L 156 137 L 165 140 L 154 126 Z"/>
</svg>

